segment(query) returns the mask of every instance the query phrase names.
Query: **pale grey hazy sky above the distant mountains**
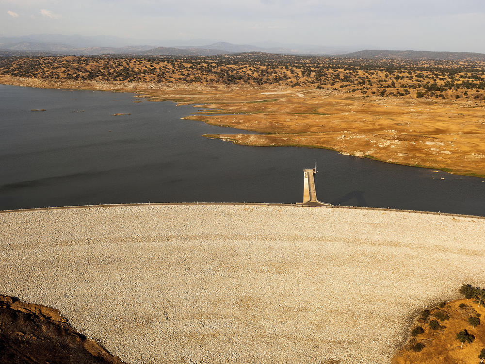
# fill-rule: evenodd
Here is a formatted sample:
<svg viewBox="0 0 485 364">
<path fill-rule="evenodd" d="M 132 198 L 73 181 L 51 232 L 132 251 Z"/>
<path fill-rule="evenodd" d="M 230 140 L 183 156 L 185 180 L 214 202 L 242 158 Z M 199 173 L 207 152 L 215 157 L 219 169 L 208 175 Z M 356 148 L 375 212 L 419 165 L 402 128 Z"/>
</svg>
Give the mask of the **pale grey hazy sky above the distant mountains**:
<svg viewBox="0 0 485 364">
<path fill-rule="evenodd" d="M 485 53 L 485 0 L 0 0 L 32 33 Z"/>
</svg>

